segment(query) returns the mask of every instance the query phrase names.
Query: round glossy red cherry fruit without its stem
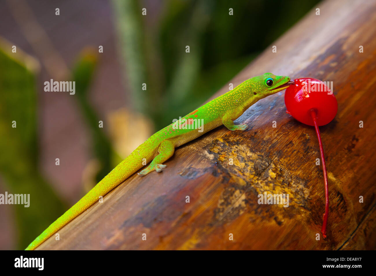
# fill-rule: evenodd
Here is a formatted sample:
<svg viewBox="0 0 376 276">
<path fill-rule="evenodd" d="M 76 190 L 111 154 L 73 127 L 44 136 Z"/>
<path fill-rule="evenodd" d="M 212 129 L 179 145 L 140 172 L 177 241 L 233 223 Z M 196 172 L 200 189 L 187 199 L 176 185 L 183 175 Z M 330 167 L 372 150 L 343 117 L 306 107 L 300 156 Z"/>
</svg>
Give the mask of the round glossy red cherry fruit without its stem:
<svg viewBox="0 0 376 276">
<path fill-rule="evenodd" d="M 294 81 L 295 84 L 287 87 L 285 92 L 287 113 L 299 122 L 313 126 L 309 111 L 315 110 L 319 126 L 331 122 L 337 114 L 338 104 L 326 84 L 315 78 L 297 78 Z"/>
</svg>

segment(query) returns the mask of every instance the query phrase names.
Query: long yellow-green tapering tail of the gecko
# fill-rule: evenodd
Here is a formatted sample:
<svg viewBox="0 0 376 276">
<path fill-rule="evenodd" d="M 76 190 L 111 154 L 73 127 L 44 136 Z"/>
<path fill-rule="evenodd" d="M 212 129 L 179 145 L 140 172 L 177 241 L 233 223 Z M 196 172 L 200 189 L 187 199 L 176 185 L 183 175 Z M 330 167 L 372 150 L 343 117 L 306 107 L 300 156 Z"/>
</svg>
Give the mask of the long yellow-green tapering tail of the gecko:
<svg viewBox="0 0 376 276">
<path fill-rule="evenodd" d="M 158 149 L 157 145 L 145 142 L 136 148 L 127 158 L 121 161 L 111 172 L 108 173 L 96 186 L 94 186 L 83 198 L 68 209 L 61 217 L 53 222 L 42 234 L 35 238 L 25 250 L 34 250 L 42 244 L 47 238 L 55 234 L 68 222 L 73 220 L 91 205 L 97 202 L 100 196 L 114 189 L 130 175 L 137 172 L 143 167 L 146 159 L 147 162 L 152 160 L 153 155 Z"/>
</svg>

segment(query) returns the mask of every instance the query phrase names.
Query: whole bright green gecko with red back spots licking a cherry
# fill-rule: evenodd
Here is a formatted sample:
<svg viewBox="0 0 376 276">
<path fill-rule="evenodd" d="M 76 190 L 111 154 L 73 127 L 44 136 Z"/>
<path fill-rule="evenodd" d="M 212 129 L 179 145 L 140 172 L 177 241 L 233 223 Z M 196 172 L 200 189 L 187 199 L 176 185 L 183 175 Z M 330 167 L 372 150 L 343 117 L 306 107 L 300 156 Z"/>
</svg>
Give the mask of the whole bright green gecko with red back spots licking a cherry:
<svg viewBox="0 0 376 276">
<path fill-rule="evenodd" d="M 196 139 L 222 124 L 231 131 L 246 130 L 248 127 L 246 124 L 235 125 L 233 121 L 258 100 L 282 91 L 292 83 L 290 77 L 276 76 L 271 73 L 250 78 L 229 92 L 184 116 L 182 121 L 173 122 L 153 134 L 111 170 L 83 198 L 45 229 L 42 234 L 29 244 L 26 250 L 33 250 L 38 247 L 47 238 L 98 201 L 100 196 L 106 195 L 130 175 L 141 169 L 145 161 L 152 162 L 146 169 L 138 173 L 142 176 L 153 170 L 161 172 L 166 167 L 163 162 L 174 154 L 176 147 Z M 203 119 L 203 128 L 188 128 L 187 124 L 193 124 L 194 119 Z M 181 124 L 181 122 L 184 123 Z"/>
</svg>

